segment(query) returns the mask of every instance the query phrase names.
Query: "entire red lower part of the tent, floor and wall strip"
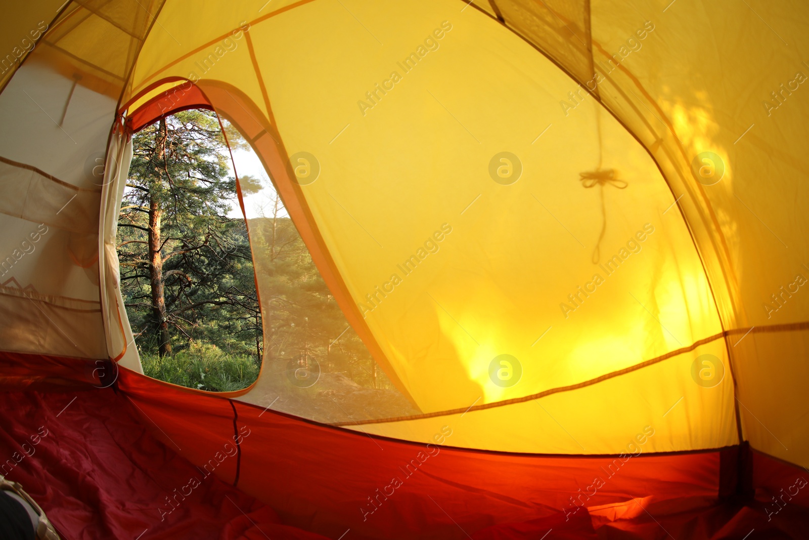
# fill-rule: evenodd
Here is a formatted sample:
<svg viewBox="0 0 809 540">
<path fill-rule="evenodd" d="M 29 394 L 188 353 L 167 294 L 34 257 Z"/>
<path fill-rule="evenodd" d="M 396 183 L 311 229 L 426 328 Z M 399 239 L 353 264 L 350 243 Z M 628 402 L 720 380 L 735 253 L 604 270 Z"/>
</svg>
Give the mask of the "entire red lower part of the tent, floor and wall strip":
<svg viewBox="0 0 809 540">
<path fill-rule="evenodd" d="M 569 483 L 591 482 L 595 458 L 446 447 L 432 470 L 418 470 L 363 520 L 358 501 L 375 495 L 371 486 L 385 486 L 380 478 L 390 476 L 392 463 L 406 463 L 423 445 L 263 414 L 124 370 L 114 389 L 0 392 L 0 410 L 3 474 L 23 484 L 66 540 L 326 538 L 296 527 L 335 540 L 809 538 L 809 473 L 757 453 L 756 498 L 745 504 L 717 499 L 719 452 L 652 455 L 633 458 L 633 470 L 616 474 L 610 491 L 599 493 L 607 499 L 594 497 L 565 516 L 559 501 L 575 494 Z M 218 454 L 215 474 L 172 449 L 180 444 L 204 464 L 195 456 L 210 452 L 210 440 L 220 444 L 211 433 L 226 425 L 231 436 L 234 429 L 250 435 L 238 454 Z M 324 461 L 312 461 L 318 456 Z M 297 471 L 296 457 L 306 464 Z M 527 466 L 536 475 L 526 479 Z M 498 492 L 495 470 L 502 475 Z M 634 495 L 644 488 L 654 495 Z M 536 504 L 537 496 L 547 504 Z"/>
</svg>

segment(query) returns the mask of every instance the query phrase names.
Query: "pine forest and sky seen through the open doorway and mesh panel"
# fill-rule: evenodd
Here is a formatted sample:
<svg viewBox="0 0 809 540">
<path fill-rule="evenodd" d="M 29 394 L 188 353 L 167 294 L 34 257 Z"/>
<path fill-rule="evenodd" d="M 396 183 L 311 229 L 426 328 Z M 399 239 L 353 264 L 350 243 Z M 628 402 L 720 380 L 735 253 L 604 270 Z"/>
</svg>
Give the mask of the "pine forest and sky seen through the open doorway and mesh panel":
<svg viewBox="0 0 809 540">
<path fill-rule="evenodd" d="M 287 408 L 315 384 L 329 396 L 375 389 L 408 408 L 345 321 L 273 186 L 239 177 L 242 193 L 263 190 L 265 203 L 247 223 L 227 217 L 236 200 L 227 143 L 248 146 L 223 124 L 188 110 L 133 137 L 117 248 L 144 372 L 232 391 L 252 384 L 263 361 Z"/>
</svg>

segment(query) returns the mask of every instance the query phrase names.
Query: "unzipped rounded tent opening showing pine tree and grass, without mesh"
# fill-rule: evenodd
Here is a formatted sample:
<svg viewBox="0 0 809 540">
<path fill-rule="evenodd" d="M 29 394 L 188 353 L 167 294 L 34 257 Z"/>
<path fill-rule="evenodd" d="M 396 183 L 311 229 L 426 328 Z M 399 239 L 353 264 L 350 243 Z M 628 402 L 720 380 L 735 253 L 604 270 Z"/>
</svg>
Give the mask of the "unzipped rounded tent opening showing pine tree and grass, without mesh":
<svg viewBox="0 0 809 540">
<path fill-rule="evenodd" d="M 201 109 L 165 117 L 134 134 L 133 152 L 117 248 L 144 372 L 244 388 L 260 368 L 261 312 L 218 118 Z"/>
</svg>

